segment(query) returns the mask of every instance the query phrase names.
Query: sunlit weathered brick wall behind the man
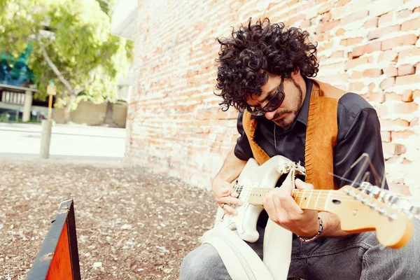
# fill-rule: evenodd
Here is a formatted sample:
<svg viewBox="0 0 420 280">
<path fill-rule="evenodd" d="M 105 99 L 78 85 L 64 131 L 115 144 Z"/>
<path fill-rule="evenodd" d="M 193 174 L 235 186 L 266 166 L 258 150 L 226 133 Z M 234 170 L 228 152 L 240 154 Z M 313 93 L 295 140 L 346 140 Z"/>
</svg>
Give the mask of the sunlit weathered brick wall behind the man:
<svg viewBox="0 0 420 280">
<path fill-rule="evenodd" d="M 318 42 L 317 78 L 358 92 L 377 109 L 388 181 L 420 198 L 416 0 L 140 1 L 127 158 L 210 186 L 237 139 L 237 112 L 221 111 L 213 94 L 215 38 L 265 16 L 309 31 Z"/>
</svg>

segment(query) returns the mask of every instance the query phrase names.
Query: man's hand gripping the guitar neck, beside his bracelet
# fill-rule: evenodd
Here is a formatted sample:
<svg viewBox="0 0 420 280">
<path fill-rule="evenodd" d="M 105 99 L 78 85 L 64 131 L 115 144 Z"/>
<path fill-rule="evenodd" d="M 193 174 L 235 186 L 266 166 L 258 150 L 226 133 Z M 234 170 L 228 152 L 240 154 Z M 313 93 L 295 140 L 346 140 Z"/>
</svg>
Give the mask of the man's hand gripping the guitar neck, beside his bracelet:
<svg viewBox="0 0 420 280">
<path fill-rule="evenodd" d="M 304 183 L 300 179 L 295 180 L 297 189 L 312 190 L 314 186 Z M 319 230 L 318 211 L 302 210 L 292 197 L 293 187 L 283 185 L 281 188 L 274 188 L 265 195 L 265 211 L 274 223 L 286 230 L 294 232 L 301 237 L 313 237 Z"/>
</svg>

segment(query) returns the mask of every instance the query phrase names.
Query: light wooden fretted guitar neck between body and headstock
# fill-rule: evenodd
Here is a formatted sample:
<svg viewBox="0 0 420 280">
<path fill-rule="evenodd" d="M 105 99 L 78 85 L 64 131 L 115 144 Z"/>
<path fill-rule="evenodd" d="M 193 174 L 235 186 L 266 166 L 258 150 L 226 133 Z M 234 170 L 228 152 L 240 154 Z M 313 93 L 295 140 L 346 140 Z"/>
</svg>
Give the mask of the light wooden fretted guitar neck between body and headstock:
<svg viewBox="0 0 420 280">
<path fill-rule="evenodd" d="M 262 206 L 262 201 L 265 195 L 269 193 L 272 188 L 253 188 L 248 197 L 248 202 L 258 207 Z M 328 203 L 327 197 L 330 197 L 332 192 L 329 190 L 293 190 L 292 197 L 301 209 L 311 209 L 318 211 L 325 211 Z"/>
</svg>

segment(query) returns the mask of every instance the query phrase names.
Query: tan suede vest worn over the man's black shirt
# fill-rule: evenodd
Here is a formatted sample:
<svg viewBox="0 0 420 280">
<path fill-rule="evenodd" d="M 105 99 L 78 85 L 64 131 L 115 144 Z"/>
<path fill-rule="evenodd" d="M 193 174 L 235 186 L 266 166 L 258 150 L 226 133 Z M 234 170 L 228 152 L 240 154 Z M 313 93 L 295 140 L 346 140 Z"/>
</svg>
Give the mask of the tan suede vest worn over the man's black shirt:
<svg viewBox="0 0 420 280">
<path fill-rule="evenodd" d="M 346 92 L 337 87 L 310 79 L 313 83 L 307 131 L 305 140 L 304 167 L 307 183 L 318 190 L 337 188 L 332 176 L 333 153 L 337 145 L 337 105 L 338 99 Z M 254 141 L 257 120 L 251 120 L 251 114 L 244 111 L 242 125 L 248 138 L 253 157 L 262 165 L 269 159 L 269 155 Z"/>
</svg>

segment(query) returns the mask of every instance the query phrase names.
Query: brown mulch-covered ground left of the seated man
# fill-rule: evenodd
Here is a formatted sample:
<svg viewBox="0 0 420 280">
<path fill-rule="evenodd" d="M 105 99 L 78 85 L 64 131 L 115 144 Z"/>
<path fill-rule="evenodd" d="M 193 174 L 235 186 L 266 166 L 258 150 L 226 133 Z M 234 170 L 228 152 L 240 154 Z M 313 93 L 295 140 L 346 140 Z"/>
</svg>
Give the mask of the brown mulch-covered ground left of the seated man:
<svg viewBox="0 0 420 280">
<path fill-rule="evenodd" d="M 124 162 L 0 159 L 0 279 L 25 279 L 74 200 L 82 279 L 178 279 L 214 223 L 211 191 Z"/>
</svg>

